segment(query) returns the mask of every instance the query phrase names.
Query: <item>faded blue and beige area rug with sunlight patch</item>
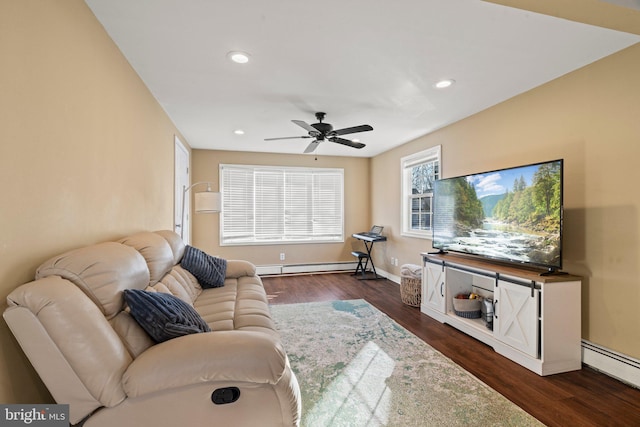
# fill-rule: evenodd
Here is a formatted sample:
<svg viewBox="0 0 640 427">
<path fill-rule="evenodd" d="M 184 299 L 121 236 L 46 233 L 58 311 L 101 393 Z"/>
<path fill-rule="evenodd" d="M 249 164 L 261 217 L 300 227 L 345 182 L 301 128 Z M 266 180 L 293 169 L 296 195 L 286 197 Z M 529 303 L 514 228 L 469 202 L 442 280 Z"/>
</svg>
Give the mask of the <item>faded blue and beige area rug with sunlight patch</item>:
<svg viewBox="0 0 640 427">
<path fill-rule="evenodd" d="M 540 426 L 364 300 L 272 305 L 302 425 Z"/>
</svg>

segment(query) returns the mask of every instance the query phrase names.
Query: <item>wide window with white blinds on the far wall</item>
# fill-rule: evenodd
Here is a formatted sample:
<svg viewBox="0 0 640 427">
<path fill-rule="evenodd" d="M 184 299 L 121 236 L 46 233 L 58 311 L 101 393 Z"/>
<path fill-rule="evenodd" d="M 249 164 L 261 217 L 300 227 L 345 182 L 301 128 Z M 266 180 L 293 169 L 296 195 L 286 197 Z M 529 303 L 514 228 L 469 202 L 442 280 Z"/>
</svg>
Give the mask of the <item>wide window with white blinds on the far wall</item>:
<svg viewBox="0 0 640 427">
<path fill-rule="evenodd" d="M 344 241 L 344 170 L 220 165 L 221 245 Z"/>
</svg>

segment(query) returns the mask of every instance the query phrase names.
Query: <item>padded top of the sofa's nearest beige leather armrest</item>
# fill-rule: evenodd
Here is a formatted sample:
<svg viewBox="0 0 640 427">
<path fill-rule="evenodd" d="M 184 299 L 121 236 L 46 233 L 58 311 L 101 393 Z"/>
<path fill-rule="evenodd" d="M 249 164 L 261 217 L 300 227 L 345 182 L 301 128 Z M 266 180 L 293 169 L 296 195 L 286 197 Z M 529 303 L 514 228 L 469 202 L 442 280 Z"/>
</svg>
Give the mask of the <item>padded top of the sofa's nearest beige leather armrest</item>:
<svg viewBox="0 0 640 427">
<path fill-rule="evenodd" d="M 288 365 L 277 338 L 261 332 L 214 331 L 156 344 L 123 376 L 130 397 L 192 384 L 225 381 L 276 384 Z"/>
</svg>

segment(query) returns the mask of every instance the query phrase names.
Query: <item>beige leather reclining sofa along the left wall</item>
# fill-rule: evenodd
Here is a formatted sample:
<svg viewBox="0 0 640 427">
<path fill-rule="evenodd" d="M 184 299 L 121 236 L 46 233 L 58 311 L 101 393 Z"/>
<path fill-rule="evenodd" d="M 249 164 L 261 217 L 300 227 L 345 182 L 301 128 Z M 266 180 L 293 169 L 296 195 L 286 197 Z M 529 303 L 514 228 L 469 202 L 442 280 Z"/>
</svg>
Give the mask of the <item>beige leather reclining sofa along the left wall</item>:
<svg viewBox="0 0 640 427">
<path fill-rule="evenodd" d="M 56 256 L 8 296 L 4 318 L 72 424 L 298 425 L 298 383 L 255 266 L 229 260 L 224 286 L 203 290 L 180 266 L 184 249 L 159 231 Z M 125 309 L 125 289 L 170 292 L 212 332 L 156 344 Z"/>
</svg>

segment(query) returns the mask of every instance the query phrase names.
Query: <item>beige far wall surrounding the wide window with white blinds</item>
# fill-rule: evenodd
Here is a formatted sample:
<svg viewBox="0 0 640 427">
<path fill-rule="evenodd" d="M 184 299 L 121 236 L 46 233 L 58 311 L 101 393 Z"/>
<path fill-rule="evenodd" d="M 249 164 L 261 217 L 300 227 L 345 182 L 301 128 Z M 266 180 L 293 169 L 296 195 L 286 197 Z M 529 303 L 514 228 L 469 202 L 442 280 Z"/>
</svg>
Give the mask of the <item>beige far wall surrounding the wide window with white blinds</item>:
<svg viewBox="0 0 640 427">
<path fill-rule="evenodd" d="M 362 250 L 362 243 L 351 234 L 366 230 L 371 225 L 369 196 L 369 159 L 313 155 L 286 155 L 245 153 L 237 151 L 193 150 L 192 181 L 220 182 L 218 166 L 221 163 L 244 165 L 308 166 L 343 168 L 345 180 L 345 242 L 295 245 L 223 246 L 219 243 L 219 216 L 193 215 L 193 246 L 227 259 L 246 259 L 256 265 L 304 264 L 313 262 L 353 261 L 354 247 Z M 280 261 L 280 253 L 285 261 Z"/>
</svg>

